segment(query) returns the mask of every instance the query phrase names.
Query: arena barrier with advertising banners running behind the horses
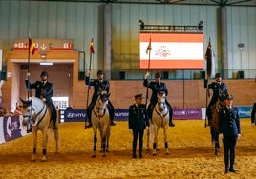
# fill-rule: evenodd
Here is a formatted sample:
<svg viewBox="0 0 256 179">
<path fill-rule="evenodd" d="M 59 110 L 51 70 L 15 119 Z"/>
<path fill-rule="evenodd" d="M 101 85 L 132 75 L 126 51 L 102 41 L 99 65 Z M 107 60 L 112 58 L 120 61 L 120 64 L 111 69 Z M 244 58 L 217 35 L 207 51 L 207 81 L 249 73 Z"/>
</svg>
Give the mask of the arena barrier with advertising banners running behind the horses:
<svg viewBox="0 0 256 179">
<path fill-rule="evenodd" d="M 238 107 L 241 118 L 250 118 L 252 107 Z M 116 109 L 115 121 L 127 121 L 128 109 Z M 64 122 L 84 122 L 86 109 L 64 110 Z M 205 119 L 205 108 L 173 109 L 174 120 Z M 0 144 L 27 135 L 22 116 L 0 117 Z"/>
</svg>

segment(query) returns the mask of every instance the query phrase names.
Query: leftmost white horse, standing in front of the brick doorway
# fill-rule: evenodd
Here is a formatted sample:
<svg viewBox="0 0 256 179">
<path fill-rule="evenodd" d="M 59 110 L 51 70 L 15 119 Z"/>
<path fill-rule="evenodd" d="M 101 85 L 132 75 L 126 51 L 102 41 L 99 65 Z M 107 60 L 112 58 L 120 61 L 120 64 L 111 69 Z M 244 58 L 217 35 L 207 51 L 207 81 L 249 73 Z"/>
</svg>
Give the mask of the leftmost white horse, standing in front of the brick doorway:
<svg viewBox="0 0 256 179">
<path fill-rule="evenodd" d="M 31 97 L 28 101 L 22 100 L 23 103 L 23 123 L 29 121 L 32 124 L 32 135 L 33 135 L 33 154 L 31 161 L 35 161 L 36 146 L 37 146 L 37 132 L 42 131 L 43 142 L 43 157 L 41 161 L 46 161 L 47 142 L 50 129 L 53 130 L 53 120 L 51 109 L 39 98 Z M 58 125 L 59 113 L 57 112 Z M 59 149 L 59 130 L 53 130 L 55 139 L 55 149 L 58 153 Z"/>
</svg>

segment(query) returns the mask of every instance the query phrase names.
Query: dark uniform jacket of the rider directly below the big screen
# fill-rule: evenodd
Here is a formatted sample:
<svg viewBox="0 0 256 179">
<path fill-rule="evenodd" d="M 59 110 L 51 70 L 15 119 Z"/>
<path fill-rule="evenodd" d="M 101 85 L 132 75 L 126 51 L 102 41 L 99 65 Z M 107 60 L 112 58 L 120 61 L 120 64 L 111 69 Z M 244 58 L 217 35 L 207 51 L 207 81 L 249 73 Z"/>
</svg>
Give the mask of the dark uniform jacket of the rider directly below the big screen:
<svg viewBox="0 0 256 179">
<path fill-rule="evenodd" d="M 162 90 L 165 92 L 166 96 L 168 95 L 168 89 L 166 88 L 165 83 L 163 82 L 150 82 L 148 83 L 147 79 L 144 79 L 143 83 L 144 87 L 148 87 L 149 89 L 152 90 L 152 95 L 150 98 L 150 102 L 156 103 L 158 101 L 158 91 Z"/>
</svg>

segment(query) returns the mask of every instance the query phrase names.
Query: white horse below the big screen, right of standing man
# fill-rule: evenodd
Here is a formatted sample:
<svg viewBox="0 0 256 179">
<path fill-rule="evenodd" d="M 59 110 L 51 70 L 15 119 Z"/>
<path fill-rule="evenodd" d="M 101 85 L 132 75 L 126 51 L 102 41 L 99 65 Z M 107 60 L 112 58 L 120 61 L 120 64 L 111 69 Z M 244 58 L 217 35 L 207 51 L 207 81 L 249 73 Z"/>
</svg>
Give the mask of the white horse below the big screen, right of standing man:
<svg viewBox="0 0 256 179">
<path fill-rule="evenodd" d="M 169 127 L 169 111 L 166 104 L 165 93 L 158 93 L 158 103 L 155 105 L 152 112 L 152 119 L 149 122 L 149 131 L 147 134 L 147 150 L 149 150 L 149 139 L 153 140 L 153 155 L 157 154 L 158 149 L 158 132 L 160 127 L 163 129 L 165 154 L 169 154 L 167 129 Z"/>
</svg>

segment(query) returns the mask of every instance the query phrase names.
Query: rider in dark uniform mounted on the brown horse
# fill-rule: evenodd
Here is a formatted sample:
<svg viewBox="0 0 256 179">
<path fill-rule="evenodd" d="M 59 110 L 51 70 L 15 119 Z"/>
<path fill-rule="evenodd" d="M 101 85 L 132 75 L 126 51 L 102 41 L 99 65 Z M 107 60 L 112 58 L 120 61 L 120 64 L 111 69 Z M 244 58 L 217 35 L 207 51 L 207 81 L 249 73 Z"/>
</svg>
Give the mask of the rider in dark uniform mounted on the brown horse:
<svg viewBox="0 0 256 179">
<path fill-rule="evenodd" d="M 215 80 L 216 82 L 212 82 L 211 84 L 208 84 L 208 80 L 206 79 L 204 80 L 204 88 L 212 89 L 213 91 L 211 101 L 206 108 L 206 115 L 209 120 L 211 119 L 211 116 L 212 116 L 212 112 L 211 112 L 212 106 L 216 104 L 220 96 L 225 97 L 228 94 L 226 84 L 222 83 L 221 73 L 215 74 Z"/>
</svg>

